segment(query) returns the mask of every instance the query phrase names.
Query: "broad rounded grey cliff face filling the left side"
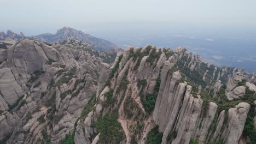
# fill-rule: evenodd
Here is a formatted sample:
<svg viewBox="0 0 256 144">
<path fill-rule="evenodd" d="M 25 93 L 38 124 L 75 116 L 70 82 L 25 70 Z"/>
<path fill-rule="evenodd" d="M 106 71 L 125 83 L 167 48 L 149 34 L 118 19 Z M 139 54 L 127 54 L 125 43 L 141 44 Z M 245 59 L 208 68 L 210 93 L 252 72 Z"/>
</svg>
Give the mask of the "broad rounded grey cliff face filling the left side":
<svg viewBox="0 0 256 144">
<path fill-rule="evenodd" d="M 2 53 L 0 139 L 60 142 L 101 86 L 111 57 L 68 38 L 63 45 L 21 39 Z"/>
</svg>

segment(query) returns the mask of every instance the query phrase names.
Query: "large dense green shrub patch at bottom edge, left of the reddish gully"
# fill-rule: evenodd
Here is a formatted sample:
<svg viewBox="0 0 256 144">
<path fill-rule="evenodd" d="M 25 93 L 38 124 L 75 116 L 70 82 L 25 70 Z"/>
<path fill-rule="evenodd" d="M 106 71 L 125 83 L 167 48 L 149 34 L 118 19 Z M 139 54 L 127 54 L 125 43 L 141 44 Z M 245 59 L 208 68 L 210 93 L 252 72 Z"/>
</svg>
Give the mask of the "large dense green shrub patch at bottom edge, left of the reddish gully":
<svg viewBox="0 0 256 144">
<path fill-rule="evenodd" d="M 98 118 L 96 128 L 100 135 L 98 142 L 102 143 L 120 143 L 125 134 L 120 123 L 117 121 L 118 112 L 114 111 L 111 114 L 106 113 L 103 118 Z"/>
</svg>

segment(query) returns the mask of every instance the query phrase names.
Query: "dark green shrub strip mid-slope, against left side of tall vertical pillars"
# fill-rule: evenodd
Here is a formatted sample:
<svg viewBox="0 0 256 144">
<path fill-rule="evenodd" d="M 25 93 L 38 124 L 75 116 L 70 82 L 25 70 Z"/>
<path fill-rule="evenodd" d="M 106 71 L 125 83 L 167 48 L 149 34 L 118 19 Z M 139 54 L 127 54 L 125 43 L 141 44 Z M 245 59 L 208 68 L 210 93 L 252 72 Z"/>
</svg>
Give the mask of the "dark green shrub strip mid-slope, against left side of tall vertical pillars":
<svg viewBox="0 0 256 144">
<path fill-rule="evenodd" d="M 145 111 L 147 113 L 151 113 L 154 110 L 156 98 L 158 97 L 160 83 L 161 83 L 161 79 L 160 79 L 160 75 L 159 75 L 158 79 L 156 80 L 153 93 L 146 93 L 146 94 L 144 94 L 141 91 L 142 105 L 144 106 L 144 109 L 145 109 Z"/>
</svg>

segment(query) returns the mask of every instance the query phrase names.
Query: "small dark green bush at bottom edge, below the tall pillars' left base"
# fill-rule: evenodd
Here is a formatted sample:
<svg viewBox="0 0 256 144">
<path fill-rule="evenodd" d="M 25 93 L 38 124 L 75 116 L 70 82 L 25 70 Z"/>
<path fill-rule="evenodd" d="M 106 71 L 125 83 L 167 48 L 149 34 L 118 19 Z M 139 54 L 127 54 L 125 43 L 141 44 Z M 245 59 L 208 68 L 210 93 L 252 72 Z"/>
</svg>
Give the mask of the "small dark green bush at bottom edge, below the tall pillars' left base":
<svg viewBox="0 0 256 144">
<path fill-rule="evenodd" d="M 162 142 L 162 133 L 159 133 L 158 126 L 149 131 L 146 143 L 159 144 Z"/>
</svg>

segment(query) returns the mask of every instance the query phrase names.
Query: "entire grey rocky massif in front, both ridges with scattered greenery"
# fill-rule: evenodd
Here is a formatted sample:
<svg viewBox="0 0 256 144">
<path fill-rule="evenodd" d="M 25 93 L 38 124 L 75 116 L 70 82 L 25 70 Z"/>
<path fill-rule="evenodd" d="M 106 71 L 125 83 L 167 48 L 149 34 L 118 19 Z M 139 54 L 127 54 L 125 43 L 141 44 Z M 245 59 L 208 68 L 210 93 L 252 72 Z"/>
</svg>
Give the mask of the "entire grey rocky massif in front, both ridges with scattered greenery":
<svg viewBox="0 0 256 144">
<path fill-rule="evenodd" d="M 74 38 L 0 49 L 0 143 L 256 142 L 256 73 L 185 47 L 114 57 Z"/>
</svg>

